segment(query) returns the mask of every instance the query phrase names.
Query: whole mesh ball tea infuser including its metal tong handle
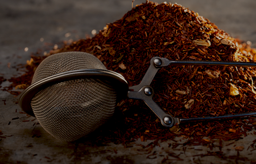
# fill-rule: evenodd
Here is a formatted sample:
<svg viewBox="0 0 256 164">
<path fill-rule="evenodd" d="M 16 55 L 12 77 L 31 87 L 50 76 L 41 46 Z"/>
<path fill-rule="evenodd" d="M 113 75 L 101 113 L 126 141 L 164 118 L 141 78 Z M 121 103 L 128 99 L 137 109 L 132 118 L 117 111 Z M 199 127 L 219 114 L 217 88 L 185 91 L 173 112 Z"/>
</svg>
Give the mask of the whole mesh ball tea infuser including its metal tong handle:
<svg viewBox="0 0 256 164">
<path fill-rule="evenodd" d="M 227 65 L 256 67 L 255 62 L 169 61 L 153 57 L 139 85 L 131 86 L 120 74 L 109 71 L 92 54 L 64 52 L 51 55 L 40 63 L 31 85 L 19 97 L 19 105 L 35 116 L 42 127 L 61 141 L 75 141 L 106 123 L 114 114 L 116 102 L 143 100 L 159 117 L 163 126 L 176 123 L 245 117 L 256 112 L 180 119 L 166 114 L 153 101 L 150 86 L 157 71 L 168 65 Z"/>
</svg>

